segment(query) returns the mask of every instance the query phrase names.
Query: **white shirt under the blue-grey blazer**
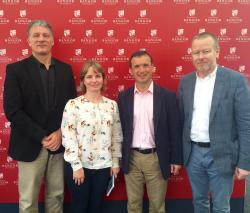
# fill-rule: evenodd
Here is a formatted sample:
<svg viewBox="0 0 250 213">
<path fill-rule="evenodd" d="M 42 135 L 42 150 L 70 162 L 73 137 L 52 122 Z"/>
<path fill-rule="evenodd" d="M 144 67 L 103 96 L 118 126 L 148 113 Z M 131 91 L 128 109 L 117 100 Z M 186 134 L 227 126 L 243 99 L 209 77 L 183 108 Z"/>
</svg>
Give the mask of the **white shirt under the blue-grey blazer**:
<svg viewBox="0 0 250 213">
<path fill-rule="evenodd" d="M 196 74 L 193 117 L 190 138 L 195 142 L 210 142 L 209 116 L 213 98 L 217 67 L 205 78 Z"/>
</svg>

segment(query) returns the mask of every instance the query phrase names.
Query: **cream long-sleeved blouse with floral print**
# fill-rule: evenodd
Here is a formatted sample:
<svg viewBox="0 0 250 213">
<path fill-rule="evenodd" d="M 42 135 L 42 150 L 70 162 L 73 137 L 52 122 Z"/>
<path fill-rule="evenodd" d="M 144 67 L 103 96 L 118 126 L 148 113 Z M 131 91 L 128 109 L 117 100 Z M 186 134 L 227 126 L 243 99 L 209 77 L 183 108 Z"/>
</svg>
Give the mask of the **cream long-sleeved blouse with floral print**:
<svg viewBox="0 0 250 213">
<path fill-rule="evenodd" d="M 119 167 L 122 130 L 117 103 L 93 103 L 84 96 L 67 102 L 61 125 L 64 159 L 73 171 Z"/>
</svg>

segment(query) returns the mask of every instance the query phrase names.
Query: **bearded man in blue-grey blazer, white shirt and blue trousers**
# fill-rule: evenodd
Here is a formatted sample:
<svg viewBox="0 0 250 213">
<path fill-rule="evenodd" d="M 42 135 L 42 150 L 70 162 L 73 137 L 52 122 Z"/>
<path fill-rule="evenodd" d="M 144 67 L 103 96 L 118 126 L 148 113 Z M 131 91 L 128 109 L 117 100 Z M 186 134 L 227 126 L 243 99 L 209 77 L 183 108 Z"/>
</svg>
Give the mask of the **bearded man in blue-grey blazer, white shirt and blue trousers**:
<svg viewBox="0 0 250 213">
<path fill-rule="evenodd" d="M 230 213 L 233 176 L 250 171 L 250 94 L 246 79 L 217 65 L 219 44 L 208 32 L 192 40 L 196 71 L 179 87 L 183 153 L 195 213 Z"/>
</svg>

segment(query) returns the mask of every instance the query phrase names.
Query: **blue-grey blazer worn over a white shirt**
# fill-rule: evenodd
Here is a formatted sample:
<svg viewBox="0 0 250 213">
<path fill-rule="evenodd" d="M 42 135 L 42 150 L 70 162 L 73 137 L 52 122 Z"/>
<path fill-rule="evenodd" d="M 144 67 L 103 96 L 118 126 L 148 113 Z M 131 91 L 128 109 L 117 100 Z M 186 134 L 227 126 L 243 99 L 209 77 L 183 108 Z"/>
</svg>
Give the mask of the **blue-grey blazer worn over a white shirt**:
<svg viewBox="0 0 250 213">
<path fill-rule="evenodd" d="M 196 73 L 183 77 L 179 105 L 183 124 L 183 155 L 191 153 L 190 131 Z M 209 115 L 209 136 L 214 163 L 221 174 L 235 167 L 250 170 L 250 92 L 243 75 L 218 66 Z"/>
</svg>

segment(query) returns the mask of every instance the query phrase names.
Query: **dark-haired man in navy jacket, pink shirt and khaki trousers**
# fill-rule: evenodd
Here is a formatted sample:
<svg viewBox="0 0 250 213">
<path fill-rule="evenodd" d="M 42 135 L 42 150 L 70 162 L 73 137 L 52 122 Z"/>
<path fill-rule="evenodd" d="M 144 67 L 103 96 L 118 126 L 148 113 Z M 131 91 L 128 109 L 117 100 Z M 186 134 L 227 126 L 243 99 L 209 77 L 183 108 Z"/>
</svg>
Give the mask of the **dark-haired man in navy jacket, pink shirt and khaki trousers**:
<svg viewBox="0 0 250 213">
<path fill-rule="evenodd" d="M 149 212 L 165 212 L 166 179 L 182 164 L 181 127 L 176 96 L 152 80 L 152 57 L 137 51 L 129 60 L 135 86 L 119 95 L 123 130 L 122 168 L 128 212 L 142 213 L 144 184 Z"/>
</svg>

